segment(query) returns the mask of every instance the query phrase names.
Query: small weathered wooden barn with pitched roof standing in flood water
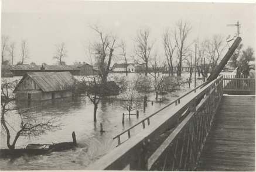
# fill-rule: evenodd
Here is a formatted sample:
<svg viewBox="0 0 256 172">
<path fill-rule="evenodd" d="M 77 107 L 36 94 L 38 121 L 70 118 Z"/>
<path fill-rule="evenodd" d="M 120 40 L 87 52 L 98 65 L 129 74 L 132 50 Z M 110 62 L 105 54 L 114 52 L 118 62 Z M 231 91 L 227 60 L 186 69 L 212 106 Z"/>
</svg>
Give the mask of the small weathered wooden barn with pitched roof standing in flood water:
<svg viewBox="0 0 256 172">
<path fill-rule="evenodd" d="M 17 100 L 50 100 L 71 97 L 75 78 L 70 72 L 28 72 L 13 93 Z"/>
</svg>

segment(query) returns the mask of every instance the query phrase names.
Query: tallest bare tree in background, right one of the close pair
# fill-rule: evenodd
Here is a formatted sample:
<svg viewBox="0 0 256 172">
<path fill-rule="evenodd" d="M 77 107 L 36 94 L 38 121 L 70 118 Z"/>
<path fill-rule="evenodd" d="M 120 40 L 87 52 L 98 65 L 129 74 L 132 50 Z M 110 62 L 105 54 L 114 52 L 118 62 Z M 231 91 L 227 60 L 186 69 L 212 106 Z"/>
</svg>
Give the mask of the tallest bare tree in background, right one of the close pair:
<svg viewBox="0 0 256 172">
<path fill-rule="evenodd" d="M 181 76 L 182 73 L 182 59 L 187 55 L 187 51 L 189 50 L 189 45 L 186 45 L 187 36 L 190 33 L 192 27 L 188 22 L 183 22 L 182 20 L 179 20 L 176 23 L 176 28 L 173 31 L 176 47 L 178 48 L 178 57 L 179 57 L 179 63 L 178 63 L 178 69 L 177 69 L 177 75 Z"/>
</svg>

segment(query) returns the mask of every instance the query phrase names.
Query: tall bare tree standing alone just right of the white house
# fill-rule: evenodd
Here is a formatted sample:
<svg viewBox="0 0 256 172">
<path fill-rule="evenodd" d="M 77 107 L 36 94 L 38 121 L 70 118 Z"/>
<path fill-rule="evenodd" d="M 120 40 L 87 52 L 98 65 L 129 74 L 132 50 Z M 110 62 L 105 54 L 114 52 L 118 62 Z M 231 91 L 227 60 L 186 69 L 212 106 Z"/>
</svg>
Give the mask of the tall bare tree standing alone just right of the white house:
<svg viewBox="0 0 256 172">
<path fill-rule="evenodd" d="M 135 38 L 135 54 L 140 59 L 139 65 L 145 65 L 145 75 L 148 75 L 148 63 L 151 57 L 153 43 L 149 41 L 149 29 L 139 30 Z"/>
</svg>

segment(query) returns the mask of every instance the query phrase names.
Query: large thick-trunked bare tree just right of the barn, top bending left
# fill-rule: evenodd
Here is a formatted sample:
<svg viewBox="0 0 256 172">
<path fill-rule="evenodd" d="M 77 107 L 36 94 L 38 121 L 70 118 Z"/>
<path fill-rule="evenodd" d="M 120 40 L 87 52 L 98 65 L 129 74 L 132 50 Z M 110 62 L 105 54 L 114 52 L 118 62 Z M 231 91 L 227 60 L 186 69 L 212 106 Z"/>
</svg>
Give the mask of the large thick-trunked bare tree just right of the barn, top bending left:
<svg viewBox="0 0 256 172">
<path fill-rule="evenodd" d="M 104 34 L 97 26 L 91 27 L 99 37 L 99 40 L 93 44 L 92 52 L 96 59 L 98 75 L 103 84 L 107 83 L 107 76 L 110 72 L 110 64 L 115 50 L 116 38 L 111 34 Z"/>
</svg>

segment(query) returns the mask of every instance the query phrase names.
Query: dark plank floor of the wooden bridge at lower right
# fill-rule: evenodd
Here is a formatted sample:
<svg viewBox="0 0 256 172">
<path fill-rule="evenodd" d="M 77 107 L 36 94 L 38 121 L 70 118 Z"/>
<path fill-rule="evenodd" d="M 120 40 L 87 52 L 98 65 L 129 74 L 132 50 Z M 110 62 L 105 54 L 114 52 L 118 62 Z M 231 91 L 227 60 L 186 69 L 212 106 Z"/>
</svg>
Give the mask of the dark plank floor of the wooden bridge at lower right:
<svg viewBox="0 0 256 172">
<path fill-rule="evenodd" d="M 223 96 L 198 171 L 254 171 L 255 96 Z"/>
</svg>

